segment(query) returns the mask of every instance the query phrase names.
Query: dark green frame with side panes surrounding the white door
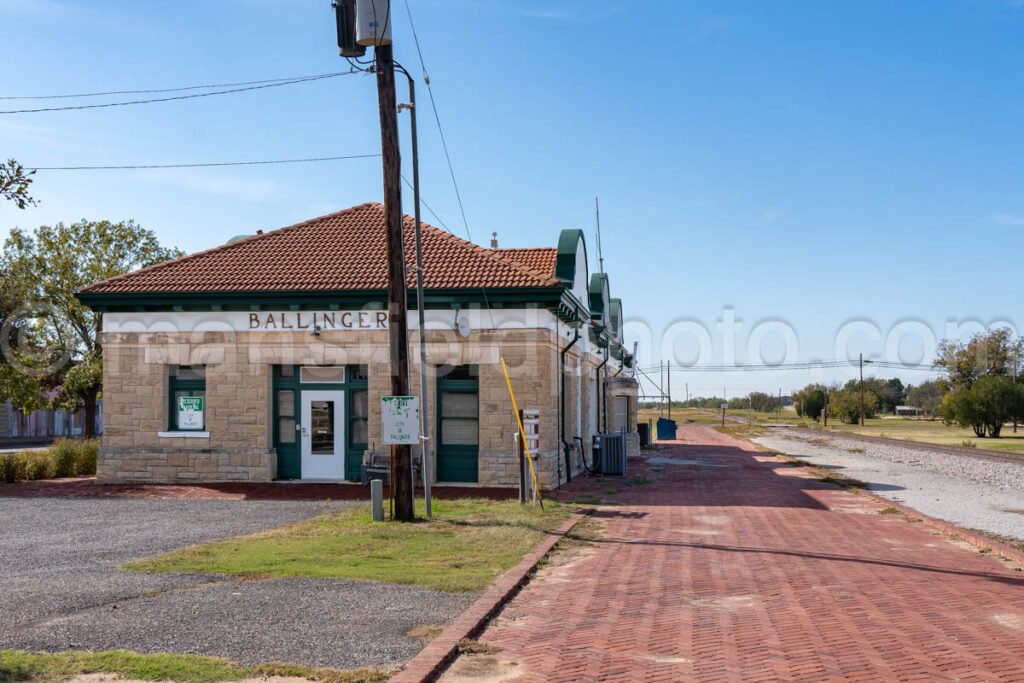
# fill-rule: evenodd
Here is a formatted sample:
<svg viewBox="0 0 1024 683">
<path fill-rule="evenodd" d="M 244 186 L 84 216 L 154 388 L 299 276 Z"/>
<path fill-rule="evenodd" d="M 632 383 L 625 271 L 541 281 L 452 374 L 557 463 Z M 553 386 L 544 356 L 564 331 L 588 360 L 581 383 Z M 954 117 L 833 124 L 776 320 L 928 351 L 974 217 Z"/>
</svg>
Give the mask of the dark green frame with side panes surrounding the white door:
<svg viewBox="0 0 1024 683">
<path fill-rule="evenodd" d="M 300 366 L 292 366 L 291 377 L 283 375 L 285 366 L 273 367 L 273 397 L 272 414 L 273 420 L 273 447 L 278 452 L 278 478 L 279 479 L 301 479 L 302 478 L 302 454 L 301 443 L 298 436 L 293 443 L 281 442 L 281 405 L 279 391 L 292 391 L 295 397 L 295 422 L 300 421 L 302 407 L 302 391 L 343 391 L 345 393 L 345 479 L 358 481 L 360 468 L 362 465 L 362 454 L 367 451 L 367 443 L 353 440 L 352 423 L 357 419 L 353 415 L 353 394 L 358 391 L 367 391 L 370 382 L 367 378 L 366 366 L 347 366 L 345 368 L 344 383 L 313 383 L 300 381 Z M 287 416 L 286 416 L 287 417 Z"/>
</svg>

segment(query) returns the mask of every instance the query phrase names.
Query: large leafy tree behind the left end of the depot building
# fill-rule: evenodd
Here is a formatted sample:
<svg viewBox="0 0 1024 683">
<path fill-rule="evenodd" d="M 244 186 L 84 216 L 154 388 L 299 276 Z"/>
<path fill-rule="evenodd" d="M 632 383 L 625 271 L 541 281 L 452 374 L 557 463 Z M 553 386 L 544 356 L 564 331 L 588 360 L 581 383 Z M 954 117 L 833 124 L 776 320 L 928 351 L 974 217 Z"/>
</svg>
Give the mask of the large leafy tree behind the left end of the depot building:
<svg viewBox="0 0 1024 683">
<path fill-rule="evenodd" d="M 0 267 L 20 306 L 3 328 L 14 343 L 3 348 L 0 398 L 23 410 L 84 408 L 86 435 L 92 436 L 102 388 L 100 316 L 75 295 L 94 282 L 180 255 L 130 220 L 11 230 Z"/>
</svg>

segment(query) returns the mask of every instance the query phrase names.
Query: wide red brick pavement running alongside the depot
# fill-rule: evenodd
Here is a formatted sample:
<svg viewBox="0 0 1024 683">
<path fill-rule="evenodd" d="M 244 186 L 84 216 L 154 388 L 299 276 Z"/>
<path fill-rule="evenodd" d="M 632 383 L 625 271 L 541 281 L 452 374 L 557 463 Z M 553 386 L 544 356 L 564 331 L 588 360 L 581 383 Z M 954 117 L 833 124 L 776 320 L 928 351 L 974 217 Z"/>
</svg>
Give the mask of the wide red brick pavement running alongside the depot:
<svg viewBox="0 0 1024 683">
<path fill-rule="evenodd" d="M 638 463 L 656 482 L 618 484 L 601 540 L 480 635 L 501 680 L 1024 681 L 1019 567 L 749 443 L 681 437 L 651 455 L 695 464 Z"/>
</svg>

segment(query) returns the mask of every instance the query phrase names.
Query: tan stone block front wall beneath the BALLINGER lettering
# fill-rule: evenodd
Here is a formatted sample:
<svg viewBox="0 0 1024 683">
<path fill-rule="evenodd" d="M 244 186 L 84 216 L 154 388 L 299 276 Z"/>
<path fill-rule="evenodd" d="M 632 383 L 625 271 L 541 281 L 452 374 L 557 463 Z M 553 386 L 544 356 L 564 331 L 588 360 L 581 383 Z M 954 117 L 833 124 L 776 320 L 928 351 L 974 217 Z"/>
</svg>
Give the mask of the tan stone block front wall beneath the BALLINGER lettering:
<svg viewBox="0 0 1024 683">
<path fill-rule="evenodd" d="M 418 338 L 411 335 L 411 346 Z M 391 392 L 386 332 L 104 333 L 104 430 L 98 477 L 105 481 L 267 481 L 276 475 L 270 396 L 275 365 L 367 365 L 371 441 L 380 432 L 380 397 Z M 518 483 L 513 435 L 518 426 L 501 358 L 522 409 L 541 412 L 540 478 L 555 485 L 558 340 L 543 329 L 428 331 L 428 383 L 436 366 L 480 369 L 480 485 Z M 172 365 L 206 366 L 209 436 L 168 435 Z M 411 354 L 419 393 L 419 354 Z M 436 443 L 436 393 L 428 394 L 430 438 Z M 161 435 L 164 432 L 165 435 Z M 381 444 L 376 444 L 382 447 Z M 371 446 L 372 447 L 372 446 Z M 419 450 L 416 446 L 415 450 Z"/>
</svg>

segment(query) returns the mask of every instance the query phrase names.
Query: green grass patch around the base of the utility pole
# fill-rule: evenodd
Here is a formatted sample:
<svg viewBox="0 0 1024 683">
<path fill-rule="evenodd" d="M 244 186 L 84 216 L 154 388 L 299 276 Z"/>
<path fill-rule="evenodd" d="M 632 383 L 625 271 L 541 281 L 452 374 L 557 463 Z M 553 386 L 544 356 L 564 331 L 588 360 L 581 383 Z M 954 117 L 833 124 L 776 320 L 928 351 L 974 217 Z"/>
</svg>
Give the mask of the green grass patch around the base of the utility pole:
<svg viewBox="0 0 1024 683">
<path fill-rule="evenodd" d="M 369 506 L 350 508 L 135 560 L 124 568 L 261 579 L 354 579 L 436 591 L 482 591 L 571 514 L 571 509 L 552 501 L 544 505 L 542 511 L 517 501 L 434 501 L 431 521 L 404 524 L 372 521 Z"/>
</svg>

